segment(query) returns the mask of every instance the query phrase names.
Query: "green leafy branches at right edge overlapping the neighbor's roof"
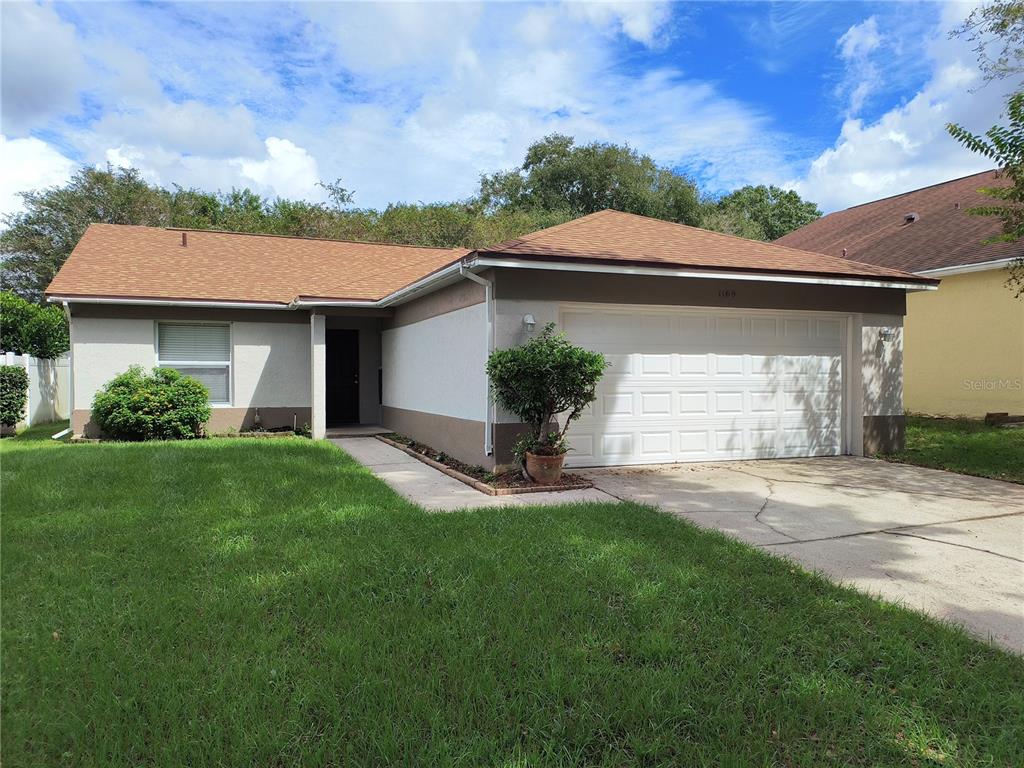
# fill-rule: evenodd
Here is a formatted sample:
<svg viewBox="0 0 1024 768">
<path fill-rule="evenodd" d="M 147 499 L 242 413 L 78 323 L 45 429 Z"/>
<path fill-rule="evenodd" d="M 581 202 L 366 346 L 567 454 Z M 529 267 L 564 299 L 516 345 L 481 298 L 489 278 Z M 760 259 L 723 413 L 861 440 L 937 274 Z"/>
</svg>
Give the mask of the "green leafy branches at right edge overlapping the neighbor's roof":
<svg viewBox="0 0 1024 768">
<path fill-rule="evenodd" d="M 1009 125 L 993 126 L 984 136 L 949 123 L 950 135 L 971 152 L 991 160 L 1010 180 L 1008 186 L 981 189 L 998 204 L 969 208 L 973 216 L 995 216 L 1002 222 L 1002 232 L 987 242 L 1016 242 L 1024 237 L 1024 93 L 1013 94 L 1007 102 Z M 1024 298 L 1024 258 L 1011 262 L 1007 286 L 1017 298 Z"/>
</svg>

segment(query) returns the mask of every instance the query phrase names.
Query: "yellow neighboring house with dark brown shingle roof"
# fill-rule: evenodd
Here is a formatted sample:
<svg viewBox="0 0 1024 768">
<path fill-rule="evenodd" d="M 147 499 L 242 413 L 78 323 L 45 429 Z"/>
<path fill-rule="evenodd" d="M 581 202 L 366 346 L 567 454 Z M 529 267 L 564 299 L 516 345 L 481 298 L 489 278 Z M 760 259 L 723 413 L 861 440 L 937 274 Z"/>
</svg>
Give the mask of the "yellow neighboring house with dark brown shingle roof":
<svg viewBox="0 0 1024 768">
<path fill-rule="evenodd" d="M 984 241 L 1000 232 L 978 189 L 1007 181 L 995 171 L 831 213 L 778 245 L 941 278 L 935 292 L 907 298 L 903 403 L 911 413 L 981 417 L 1024 414 L 1024 298 L 1006 286 L 1024 243 Z"/>
</svg>

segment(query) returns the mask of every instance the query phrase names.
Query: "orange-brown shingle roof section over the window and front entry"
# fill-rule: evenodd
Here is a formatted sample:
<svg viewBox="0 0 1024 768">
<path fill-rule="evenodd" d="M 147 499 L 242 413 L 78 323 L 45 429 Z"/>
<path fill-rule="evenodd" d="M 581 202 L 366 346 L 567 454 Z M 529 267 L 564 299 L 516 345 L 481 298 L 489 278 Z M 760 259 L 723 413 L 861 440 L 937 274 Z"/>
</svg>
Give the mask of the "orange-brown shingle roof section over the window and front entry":
<svg viewBox="0 0 1024 768">
<path fill-rule="evenodd" d="M 465 256 L 418 248 L 209 230 L 92 224 L 48 295 L 287 304 L 377 300 Z"/>
</svg>

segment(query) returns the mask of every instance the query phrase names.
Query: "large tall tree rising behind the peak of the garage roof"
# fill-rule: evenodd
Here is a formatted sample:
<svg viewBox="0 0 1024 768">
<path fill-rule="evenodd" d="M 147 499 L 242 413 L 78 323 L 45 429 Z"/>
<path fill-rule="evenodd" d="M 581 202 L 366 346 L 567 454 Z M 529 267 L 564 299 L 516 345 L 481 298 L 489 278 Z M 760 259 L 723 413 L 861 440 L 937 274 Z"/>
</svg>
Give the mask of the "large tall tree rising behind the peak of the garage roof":
<svg viewBox="0 0 1024 768">
<path fill-rule="evenodd" d="M 482 176 L 479 200 L 492 212 L 562 212 L 572 218 L 611 208 L 686 224 L 700 218 L 696 186 L 685 176 L 628 145 L 577 146 L 572 137 L 557 133 L 530 144 L 519 168 Z"/>
</svg>

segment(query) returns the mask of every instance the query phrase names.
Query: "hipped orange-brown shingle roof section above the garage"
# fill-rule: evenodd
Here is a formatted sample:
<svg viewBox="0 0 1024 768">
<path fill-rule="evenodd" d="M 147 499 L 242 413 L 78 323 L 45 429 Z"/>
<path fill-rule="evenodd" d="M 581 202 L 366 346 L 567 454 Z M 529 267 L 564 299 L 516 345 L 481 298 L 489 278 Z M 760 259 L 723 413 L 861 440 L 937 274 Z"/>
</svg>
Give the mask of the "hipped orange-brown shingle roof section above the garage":
<svg viewBox="0 0 1024 768">
<path fill-rule="evenodd" d="M 697 269 L 921 281 L 894 269 L 610 210 L 481 249 L 480 253 L 610 264 L 631 262 Z"/>
</svg>

